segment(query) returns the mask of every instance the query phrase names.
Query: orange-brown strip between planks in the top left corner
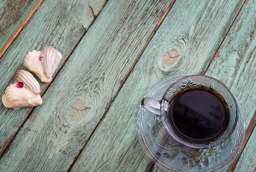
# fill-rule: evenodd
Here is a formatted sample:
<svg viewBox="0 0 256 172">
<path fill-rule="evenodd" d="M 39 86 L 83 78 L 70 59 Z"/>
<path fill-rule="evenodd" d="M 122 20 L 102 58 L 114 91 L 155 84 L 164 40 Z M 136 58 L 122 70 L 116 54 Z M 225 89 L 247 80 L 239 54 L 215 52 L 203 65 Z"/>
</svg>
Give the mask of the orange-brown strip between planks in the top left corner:
<svg viewBox="0 0 256 172">
<path fill-rule="evenodd" d="M 12 33 L 10 38 L 7 40 L 3 48 L 0 50 L 0 58 L 3 56 L 3 54 L 6 52 L 7 48 L 12 44 L 12 42 L 15 40 L 15 38 L 18 36 L 18 34 L 21 32 L 21 30 L 24 28 L 25 24 L 28 23 L 29 19 L 33 17 L 33 15 L 36 13 L 37 9 L 42 5 L 44 0 L 40 0 L 36 3 L 36 5 L 33 7 L 31 12 L 28 14 L 27 18 L 24 21 L 21 21 L 20 24 L 17 26 L 17 29 Z"/>
</svg>

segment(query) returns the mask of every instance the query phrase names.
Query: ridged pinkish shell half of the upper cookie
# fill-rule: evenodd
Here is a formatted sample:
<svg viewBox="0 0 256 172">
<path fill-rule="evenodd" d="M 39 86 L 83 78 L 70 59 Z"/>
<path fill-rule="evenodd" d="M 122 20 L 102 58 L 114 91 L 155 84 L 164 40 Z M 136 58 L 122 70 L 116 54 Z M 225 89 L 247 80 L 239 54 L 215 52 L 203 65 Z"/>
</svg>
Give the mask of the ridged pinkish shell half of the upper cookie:
<svg viewBox="0 0 256 172">
<path fill-rule="evenodd" d="M 52 46 L 47 46 L 43 49 L 41 56 L 44 73 L 46 73 L 46 76 L 50 78 L 53 73 L 54 64 L 58 61 L 58 51 L 52 48 Z"/>
</svg>

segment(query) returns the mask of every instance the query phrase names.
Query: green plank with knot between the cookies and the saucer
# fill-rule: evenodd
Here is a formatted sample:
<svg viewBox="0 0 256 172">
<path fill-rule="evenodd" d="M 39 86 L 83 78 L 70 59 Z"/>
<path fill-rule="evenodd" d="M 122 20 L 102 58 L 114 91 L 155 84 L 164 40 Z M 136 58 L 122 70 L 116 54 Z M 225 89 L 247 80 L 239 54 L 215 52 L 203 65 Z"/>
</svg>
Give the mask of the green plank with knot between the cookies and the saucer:
<svg viewBox="0 0 256 172">
<path fill-rule="evenodd" d="M 109 1 L 3 155 L 0 170 L 69 169 L 171 4 Z"/>
</svg>

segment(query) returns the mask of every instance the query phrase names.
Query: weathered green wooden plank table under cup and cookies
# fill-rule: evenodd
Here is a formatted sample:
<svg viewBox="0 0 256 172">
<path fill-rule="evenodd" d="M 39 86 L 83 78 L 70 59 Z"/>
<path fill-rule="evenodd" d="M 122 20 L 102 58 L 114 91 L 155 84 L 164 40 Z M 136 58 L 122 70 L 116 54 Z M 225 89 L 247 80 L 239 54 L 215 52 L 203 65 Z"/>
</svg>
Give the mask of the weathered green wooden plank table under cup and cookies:
<svg viewBox="0 0 256 172">
<path fill-rule="evenodd" d="M 39 82 L 42 105 L 0 103 L 0 171 L 160 171 L 135 118 L 145 92 L 175 73 L 231 89 L 246 139 L 228 171 L 256 170 L 255 0 L 3 0 L 0 14 L 1 96 L 27 52 L 63 55 L 52 82 Z"/>
</svg>

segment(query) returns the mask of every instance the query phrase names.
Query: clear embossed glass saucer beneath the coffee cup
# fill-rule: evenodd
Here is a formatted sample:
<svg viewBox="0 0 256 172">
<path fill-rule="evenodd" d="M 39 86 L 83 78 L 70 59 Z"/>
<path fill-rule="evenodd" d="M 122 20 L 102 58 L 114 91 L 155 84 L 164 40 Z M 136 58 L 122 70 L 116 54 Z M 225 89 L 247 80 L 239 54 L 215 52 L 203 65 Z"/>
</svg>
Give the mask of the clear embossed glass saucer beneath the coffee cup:
<svg viewBox="0 0 256 172">
<path fill-rule="evenodd" d="M 167 77 L 155 84 L 145 97 L 161 100 L 165 90 L 176 80 L 193 74 L 179 74 Z M 238 100 L 236 100 L 238 101 Z M 173 139 L 165 130 L 161 118 L 140 106 L 137 116 L 137 133 L 140 144 L 157 166 L 170 171 L 222 171 L 226 169 L 242 148 L 244 134 L 244 114 L 238 102 L 238 124 L 232 135 L 220 145 L 197 149 L 184 146 Z"/>
</svg>

